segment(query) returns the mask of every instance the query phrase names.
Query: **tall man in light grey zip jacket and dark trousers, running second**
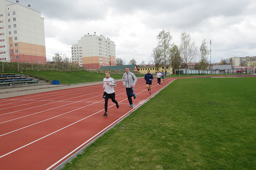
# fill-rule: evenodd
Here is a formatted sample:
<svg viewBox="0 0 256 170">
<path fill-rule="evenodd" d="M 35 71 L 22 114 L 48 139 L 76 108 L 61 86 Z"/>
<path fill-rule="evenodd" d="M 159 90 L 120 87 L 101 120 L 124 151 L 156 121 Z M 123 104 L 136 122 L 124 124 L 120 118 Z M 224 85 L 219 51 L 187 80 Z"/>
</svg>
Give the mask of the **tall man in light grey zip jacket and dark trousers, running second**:
<svg viewBox="0 0 256 170">
<path fill-rule="evenodd" d="M 132 97 L 133 99 L 136 99 L 136 94 L 133 92 L 133 90 L 137 82 L 137 77 L 132 72 L 130 72 L 130 67 L 126 67 L 125 71 L 126 73 L 124 73 L 122 80 L 123 80 L 123 84 L 126 89 L 127 98 L 130 104 L 129 107 L 133 107 Z"/>
</svg>

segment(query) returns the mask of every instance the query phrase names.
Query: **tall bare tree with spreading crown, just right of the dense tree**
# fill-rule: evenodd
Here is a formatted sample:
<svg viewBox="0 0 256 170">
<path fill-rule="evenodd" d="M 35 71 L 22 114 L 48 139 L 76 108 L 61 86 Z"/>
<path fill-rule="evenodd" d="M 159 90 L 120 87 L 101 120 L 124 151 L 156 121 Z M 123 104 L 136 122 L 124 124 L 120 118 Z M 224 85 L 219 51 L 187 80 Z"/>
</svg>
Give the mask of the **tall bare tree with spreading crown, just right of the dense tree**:
<svg viewBox="0 0 256 170">
<path fill-rule="evenodd" d="M 194 42 L 190 42 L 191 38 L 190 38 L 190 34 L 183 32 L 180 35 L 180 55 L 182 58 L 182 62 L 184 63 L 184 65 L 186 66 L 186 74 L 187 74 L 187 65 L 188 63 L 191 63 L 193 60 L 196 59 L 197 57 L 197 48 L 196 48 L 196 43 Z"/>
</svg>

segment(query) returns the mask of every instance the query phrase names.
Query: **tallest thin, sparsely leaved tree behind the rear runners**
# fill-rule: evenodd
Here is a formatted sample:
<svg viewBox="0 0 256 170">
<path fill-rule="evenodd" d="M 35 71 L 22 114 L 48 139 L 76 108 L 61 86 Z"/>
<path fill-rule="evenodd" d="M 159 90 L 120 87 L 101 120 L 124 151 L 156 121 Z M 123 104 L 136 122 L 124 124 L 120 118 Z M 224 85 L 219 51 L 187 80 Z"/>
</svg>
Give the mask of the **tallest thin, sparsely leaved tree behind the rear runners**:
<svg viewBox="0 0 256 170">
<path fill-rule="evenodd" d="M 158 33 L 156 36 L 156 39 L 158 41 L 158 48 L 161 50 L 161 55 L 163 56 L 163 65 L 165 69 L 165 74 L 166 74 L 166 65 L 169 65 L 168 63 L 168 56 L 170 53 L 171 49 L 171 40 L 172 40 L 172 35 L 170 34 L 170 31 L 165 31 L 164 28 L 163 30 Z"/>
</svg>

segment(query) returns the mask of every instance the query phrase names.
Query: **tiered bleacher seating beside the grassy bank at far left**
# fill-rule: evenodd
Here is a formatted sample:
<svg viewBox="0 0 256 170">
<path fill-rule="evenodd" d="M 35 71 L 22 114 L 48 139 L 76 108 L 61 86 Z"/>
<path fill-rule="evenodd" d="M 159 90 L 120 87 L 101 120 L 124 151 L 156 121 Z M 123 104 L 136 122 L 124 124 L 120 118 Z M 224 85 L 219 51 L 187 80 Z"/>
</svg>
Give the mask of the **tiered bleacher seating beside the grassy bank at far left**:
<svg viewBox="0 0 256 170">
<path fill-rule="evenodd" d="M 0 86 L 27 85 L 39 83 L 38 80 L 18 74 L 0 74 Z"/>
</svg>

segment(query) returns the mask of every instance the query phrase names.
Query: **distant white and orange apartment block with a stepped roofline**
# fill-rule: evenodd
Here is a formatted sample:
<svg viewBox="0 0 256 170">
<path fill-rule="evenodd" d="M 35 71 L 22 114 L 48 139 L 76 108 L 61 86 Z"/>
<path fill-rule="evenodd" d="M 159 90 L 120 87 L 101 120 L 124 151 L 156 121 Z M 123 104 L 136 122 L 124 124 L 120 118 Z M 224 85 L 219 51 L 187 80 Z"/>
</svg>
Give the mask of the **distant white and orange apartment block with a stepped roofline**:
<svg viewBox="0 0 256 170">
<path fill-rule="evenodd" d="M 87 34 L 71 47 L 72 62 L 85 69 L 99 70 L 102 66 L 116 65 L 116 46 L 104 35 Z"/>
</svg>

